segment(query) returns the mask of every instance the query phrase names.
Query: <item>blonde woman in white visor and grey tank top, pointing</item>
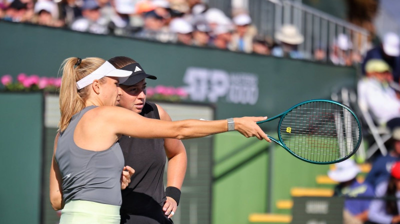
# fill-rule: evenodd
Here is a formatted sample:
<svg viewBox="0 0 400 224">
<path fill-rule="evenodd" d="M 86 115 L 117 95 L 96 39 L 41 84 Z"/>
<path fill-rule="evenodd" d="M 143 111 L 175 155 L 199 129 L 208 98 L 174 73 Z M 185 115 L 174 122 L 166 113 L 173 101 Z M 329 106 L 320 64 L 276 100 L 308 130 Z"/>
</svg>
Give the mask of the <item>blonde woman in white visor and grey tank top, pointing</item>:
<svg viewBox="0 0 400 224">
<path fill-rule="evenodd" d="M 101 58 L 67 58 L 62 64 L 59 134 L 50 169 L 50 201 L 60 223 L 119 223 L 123 155 L 118 139 L 194 138 L 237 130 L 270 139 L 256 124 L 265 117 L 166 121 L 114 106 L 119 83 L 132 73 Z"/>
</svg>

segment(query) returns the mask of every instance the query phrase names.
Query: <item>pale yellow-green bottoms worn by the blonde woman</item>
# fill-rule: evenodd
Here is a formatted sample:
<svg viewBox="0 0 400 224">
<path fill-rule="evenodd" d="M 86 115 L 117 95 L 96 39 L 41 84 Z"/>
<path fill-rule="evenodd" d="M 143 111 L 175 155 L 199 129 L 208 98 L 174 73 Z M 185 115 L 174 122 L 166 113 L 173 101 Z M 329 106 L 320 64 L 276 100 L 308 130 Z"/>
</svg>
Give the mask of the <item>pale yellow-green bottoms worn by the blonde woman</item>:
<svg viewBox="0 0 400 224">
<path fill-rule="evenodd" d="M 70 200 L 61 210 L 59 224 L 119 224 L 119 208 L 87 200 Z"/>
</svg>

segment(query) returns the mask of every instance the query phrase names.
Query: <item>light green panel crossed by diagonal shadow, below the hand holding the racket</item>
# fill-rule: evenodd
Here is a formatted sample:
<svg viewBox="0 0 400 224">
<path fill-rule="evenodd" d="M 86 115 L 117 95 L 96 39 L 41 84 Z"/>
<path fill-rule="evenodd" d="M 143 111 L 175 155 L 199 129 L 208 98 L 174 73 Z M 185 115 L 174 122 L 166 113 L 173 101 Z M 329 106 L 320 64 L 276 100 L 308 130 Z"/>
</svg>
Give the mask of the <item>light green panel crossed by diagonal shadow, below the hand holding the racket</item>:
<svg viewBox="0 0 400 224">
<path fill-rule="evenodd" d="M 212 223 L 247 223 L 268 206 L 268 145 L 238 132 L 215 136 Z"/>
</svg>

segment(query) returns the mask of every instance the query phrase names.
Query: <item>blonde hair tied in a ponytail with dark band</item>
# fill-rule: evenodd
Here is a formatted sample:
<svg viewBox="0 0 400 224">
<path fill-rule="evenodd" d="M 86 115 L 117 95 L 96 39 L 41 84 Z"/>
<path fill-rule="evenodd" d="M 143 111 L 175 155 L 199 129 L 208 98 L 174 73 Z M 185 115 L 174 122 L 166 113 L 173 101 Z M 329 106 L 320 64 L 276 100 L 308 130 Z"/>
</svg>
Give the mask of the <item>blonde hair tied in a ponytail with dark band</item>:
<svg viewBox="0 0 400 224">
<path fill-rule="evenodd" d="M 89 96 L 90 85 L 78 91 L 76 81 L 90 74 L 105 62 L 104 59 L 98 57 L 87 57 L 74 67 L 77 60 L 77 57 L 69 57 L 61 64 L 62 78 L 59 91 L 61 118 L 58 123 L 61 132 L 68 126 L 72 115 L 85 107 L 85 100 Z"/>
</svg>

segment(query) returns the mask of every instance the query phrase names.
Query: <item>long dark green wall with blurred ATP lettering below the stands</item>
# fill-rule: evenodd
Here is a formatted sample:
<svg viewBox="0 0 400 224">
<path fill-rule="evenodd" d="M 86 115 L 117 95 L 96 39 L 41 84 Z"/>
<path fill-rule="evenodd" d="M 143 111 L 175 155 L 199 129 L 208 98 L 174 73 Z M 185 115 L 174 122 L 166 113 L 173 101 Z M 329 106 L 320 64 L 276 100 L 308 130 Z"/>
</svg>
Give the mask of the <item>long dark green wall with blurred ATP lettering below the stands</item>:
<svg viewBox="0 0 400 224">
<path fill-rule="evenodd" d="M 57 76 L 67 57 L 130 56 L 157 75 L 148 85 L 185 86 L 189 100 L 217 104 L 216 118 L 272 116 L 332 89 L 354 85 L 355 69 L 225 50 L 0 22 L 0 75 Z M 250 94 L 250 95 L 248 95 Z M 240 102 L 248 99 L 249 101 Z"/>
</svg>

